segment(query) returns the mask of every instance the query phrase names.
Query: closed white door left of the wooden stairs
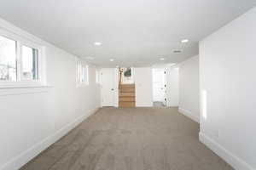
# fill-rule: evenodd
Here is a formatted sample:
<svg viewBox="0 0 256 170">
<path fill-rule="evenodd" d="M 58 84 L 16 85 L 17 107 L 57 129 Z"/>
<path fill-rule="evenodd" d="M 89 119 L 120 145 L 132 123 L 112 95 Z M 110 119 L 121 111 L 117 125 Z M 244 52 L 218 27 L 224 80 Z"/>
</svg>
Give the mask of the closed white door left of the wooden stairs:
<svg viewBox="0 0 256 170">
<path fill-rule="evenodd" d="M 114 69 L 102 69 L 102 106 L 114 106 L 114 78 Z"/>
</svg>

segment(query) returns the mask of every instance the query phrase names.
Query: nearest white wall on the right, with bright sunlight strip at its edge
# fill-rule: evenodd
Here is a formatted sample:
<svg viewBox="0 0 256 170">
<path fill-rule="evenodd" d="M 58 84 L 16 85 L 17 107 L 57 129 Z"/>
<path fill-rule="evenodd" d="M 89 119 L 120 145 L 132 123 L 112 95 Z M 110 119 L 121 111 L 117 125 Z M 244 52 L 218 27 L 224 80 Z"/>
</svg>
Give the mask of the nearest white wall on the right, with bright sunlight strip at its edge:
<svg viewBox="0 0 256 170">
<path fill-rule="evenodd" d="M 236 169 L 256 169 L 256 8 L 200 43 L 201 141 Z"/>
</svg>

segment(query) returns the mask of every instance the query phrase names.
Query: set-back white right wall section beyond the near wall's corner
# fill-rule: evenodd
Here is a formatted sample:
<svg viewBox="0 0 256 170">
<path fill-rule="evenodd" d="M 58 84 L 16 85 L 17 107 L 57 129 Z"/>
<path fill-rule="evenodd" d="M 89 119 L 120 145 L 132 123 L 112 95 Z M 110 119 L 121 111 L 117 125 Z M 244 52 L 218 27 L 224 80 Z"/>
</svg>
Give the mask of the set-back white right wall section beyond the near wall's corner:
<svg viewBox="0 0 256 170">
<path fill-rule="evenodd" d="M 199 109 L 199 57 L 191 57 L 179 64 L 179 111 L 200 120 Z"/>
</svg>

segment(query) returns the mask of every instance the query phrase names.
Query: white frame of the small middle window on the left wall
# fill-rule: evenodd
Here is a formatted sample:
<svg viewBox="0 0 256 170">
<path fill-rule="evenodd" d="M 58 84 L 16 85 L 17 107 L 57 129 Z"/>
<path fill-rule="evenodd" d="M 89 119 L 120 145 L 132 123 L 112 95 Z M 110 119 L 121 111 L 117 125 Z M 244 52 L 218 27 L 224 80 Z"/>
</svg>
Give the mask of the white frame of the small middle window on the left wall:
<svg viewBox="0 0 256 170">
<path fill-rule="evenodd" d="M 82 82 L 82 74 L 81 74 L 81 71 L 83 71 L 83 69 L 85 70 L 84 82 Z M 77 82 L 77 88 L 89 85 L 89 65 L 84 64 L 81 59 L 77 59 L 76 82 Z"/>
</svg>

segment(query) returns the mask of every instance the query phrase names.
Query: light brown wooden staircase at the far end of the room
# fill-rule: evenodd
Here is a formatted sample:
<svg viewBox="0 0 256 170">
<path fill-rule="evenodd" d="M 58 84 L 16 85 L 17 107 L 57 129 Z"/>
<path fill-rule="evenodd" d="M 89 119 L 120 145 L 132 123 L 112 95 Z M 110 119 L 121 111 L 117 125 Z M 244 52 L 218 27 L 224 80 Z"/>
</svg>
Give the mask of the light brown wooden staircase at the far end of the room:
<svg viewBox="0 0 256 170">
<path fill-rule="evenodd" d="M 119 107 L 135 107 L 135 84 L 119 84 Z"/>
</svg>

